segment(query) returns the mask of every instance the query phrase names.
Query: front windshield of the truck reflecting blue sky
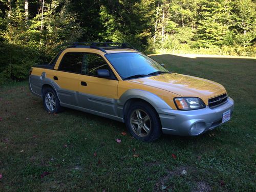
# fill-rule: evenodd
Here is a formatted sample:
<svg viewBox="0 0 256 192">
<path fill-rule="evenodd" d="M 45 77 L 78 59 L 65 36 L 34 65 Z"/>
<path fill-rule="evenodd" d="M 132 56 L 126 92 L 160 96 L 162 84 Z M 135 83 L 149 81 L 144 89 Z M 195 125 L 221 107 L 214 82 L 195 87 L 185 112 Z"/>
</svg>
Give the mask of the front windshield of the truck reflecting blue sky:
<svg viewBox="0 0 256 192">
<path fill-rule="evenodd" d="M 158 62 L 142 53 L 105 54 L 122 79 L 169 73 Z"/>
</svg>

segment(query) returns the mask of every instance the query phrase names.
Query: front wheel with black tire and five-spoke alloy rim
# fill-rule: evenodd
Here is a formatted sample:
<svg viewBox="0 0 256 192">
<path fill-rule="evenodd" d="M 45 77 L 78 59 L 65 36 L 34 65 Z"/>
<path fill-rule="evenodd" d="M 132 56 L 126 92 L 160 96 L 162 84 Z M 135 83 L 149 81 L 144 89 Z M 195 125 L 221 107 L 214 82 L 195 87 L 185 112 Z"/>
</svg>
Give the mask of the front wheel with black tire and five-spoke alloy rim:
<svg viewBox="0 0 256 192">
<path fill-rule="evenodd" d="M 145 142 L 154 141 L 162 135 L 157 112 L 143 101 L 133 103 L 127 110 L 125 124 L 132 136 Z"/>
</svg>

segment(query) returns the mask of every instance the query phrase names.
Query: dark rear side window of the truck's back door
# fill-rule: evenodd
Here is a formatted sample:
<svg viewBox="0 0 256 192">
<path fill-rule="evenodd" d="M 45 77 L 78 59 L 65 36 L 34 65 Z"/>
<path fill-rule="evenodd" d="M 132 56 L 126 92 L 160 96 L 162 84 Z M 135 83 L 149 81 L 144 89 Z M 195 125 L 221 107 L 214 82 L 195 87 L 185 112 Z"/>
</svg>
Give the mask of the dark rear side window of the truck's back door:
<svg viewBox="0 0 256 192">
<path fill-rule="evenodd" d="M 69 52 L 61 59 L 58 70 L 73 73 L 81 73 L 81 66 L 84 53 Z"/>
</svg>

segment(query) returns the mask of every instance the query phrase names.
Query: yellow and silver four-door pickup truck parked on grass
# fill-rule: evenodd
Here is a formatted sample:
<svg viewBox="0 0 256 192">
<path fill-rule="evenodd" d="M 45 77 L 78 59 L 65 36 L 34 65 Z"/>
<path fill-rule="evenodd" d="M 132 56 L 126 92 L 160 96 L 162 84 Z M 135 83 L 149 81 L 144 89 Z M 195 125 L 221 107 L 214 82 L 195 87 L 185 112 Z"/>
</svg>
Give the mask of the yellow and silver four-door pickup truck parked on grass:
<svg viewBox="0 0 256 192">
<path fill-rule="evenodd" d="M 74 43 L 49 65 L 33 66 L 29 84 L 46 111 L 66 107 L 125 122 L 143 141 L 162 133 L 197 136 L 228 121 L 233 111 L 221 84 L 172 73 L 113 42 Z"/>
</svg>

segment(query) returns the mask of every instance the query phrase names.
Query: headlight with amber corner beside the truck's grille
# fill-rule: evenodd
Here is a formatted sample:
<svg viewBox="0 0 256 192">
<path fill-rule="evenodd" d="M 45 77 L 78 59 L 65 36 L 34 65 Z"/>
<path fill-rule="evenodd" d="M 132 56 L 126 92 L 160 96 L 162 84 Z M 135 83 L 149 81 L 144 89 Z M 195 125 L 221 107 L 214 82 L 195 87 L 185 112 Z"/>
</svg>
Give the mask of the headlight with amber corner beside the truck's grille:
<svg viewBox="0 0 256 192">
<path fill-rule="evenodd" d="M 204 102 L 198 97 L 176 97 L 174 102 L 178 110 L 198 110 L 205 108 Z"/>
</svg>

